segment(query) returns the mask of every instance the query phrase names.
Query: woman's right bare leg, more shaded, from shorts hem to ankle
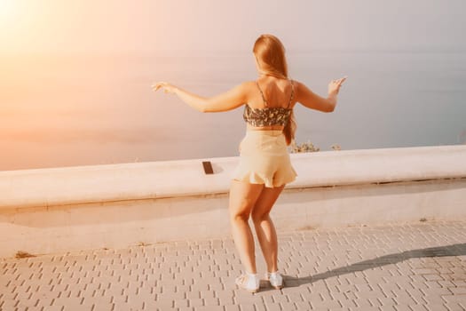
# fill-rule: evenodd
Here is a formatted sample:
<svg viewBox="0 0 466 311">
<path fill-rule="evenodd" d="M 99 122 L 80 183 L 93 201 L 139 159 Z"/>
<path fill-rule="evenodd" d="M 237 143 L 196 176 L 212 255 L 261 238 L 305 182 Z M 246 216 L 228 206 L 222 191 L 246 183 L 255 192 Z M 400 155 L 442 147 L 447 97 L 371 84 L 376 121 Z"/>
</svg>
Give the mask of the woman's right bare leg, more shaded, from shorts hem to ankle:
<svg viewBox="0 0 466 311">
<path fill-rule="evenodd" d="M 264 254 L 267 271 L 271 273 L 278 270 L 278 241 L 269 213 L 284 187 L 265 187 L 252 210 L 257 239 Z"/>
</svg>

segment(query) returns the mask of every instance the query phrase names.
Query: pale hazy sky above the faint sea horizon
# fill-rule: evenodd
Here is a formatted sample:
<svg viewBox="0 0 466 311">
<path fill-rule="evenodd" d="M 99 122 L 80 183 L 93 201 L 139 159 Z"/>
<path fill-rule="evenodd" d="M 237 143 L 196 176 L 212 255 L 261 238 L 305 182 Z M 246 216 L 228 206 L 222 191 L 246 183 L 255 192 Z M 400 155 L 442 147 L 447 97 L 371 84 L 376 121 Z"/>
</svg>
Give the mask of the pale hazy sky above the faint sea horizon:
<svg viewBox="0 0 466 311">
<path fill-rule="evenodd" d="M 464 50 L 464 0 L 0 0 L 0 52 Z"/>
</svg>

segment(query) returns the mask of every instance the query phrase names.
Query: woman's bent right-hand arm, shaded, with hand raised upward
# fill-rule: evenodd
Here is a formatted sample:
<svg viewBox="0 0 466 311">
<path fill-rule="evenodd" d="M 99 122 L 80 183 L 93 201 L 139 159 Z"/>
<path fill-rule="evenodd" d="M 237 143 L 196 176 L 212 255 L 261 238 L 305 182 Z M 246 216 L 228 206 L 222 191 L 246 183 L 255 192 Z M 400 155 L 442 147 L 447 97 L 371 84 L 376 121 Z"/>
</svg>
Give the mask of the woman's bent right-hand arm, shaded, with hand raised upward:
<svg viewBox="0 0 466 311">
<path fill-rule="evenodd" d="M 324 98 L 309 90 L 304 84 L 297 83 L 296 101 L 302 103 L 304 107 L 320 110 L 323 112 L 332 112 L 336 107 L 336 97 L 340 87 L 346 80 L 346 77 L 333 80 L 328 84 L 328 97 Z"/>
</svg>

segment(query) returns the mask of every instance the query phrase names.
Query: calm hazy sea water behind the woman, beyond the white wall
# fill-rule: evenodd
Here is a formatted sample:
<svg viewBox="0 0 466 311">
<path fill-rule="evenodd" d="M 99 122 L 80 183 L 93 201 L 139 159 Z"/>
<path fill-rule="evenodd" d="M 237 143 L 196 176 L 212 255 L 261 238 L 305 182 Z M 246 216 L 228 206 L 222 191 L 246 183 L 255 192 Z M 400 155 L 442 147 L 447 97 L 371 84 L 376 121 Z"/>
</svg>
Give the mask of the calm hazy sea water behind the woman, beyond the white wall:
<svg viewBox="0 0 466 311">
<path fill-rule="evenodd" d="M 0 170 L 237 156 L 242 108 L 202 114 L 202 96 L 257 78 L 250 53 L 0 58 Z M 320 150 L 466 143 L 463 52 L 288 52 L 289 75 L 321 96 L 348 76 L 333 113 L 297 105 L 296 142 Z"/>
</svg>

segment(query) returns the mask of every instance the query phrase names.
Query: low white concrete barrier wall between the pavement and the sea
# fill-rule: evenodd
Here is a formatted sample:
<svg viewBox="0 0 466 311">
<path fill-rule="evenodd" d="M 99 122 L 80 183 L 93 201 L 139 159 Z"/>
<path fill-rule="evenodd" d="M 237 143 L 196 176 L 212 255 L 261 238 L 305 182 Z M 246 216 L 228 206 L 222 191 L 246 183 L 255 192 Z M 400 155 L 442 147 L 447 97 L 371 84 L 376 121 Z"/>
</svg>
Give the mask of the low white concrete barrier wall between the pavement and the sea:
<svg viewBox="0 0 466 311">
<path fill-rule="evenodd" d="M 279 230 L 466 217 L 466 146 L 291 156 L 299 176 L 272 211 Z M 0 257 L 229 235 L 237 163 L 0 171 Z"/>
</svg>

